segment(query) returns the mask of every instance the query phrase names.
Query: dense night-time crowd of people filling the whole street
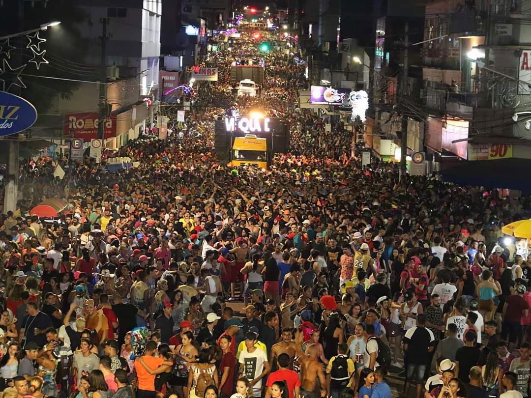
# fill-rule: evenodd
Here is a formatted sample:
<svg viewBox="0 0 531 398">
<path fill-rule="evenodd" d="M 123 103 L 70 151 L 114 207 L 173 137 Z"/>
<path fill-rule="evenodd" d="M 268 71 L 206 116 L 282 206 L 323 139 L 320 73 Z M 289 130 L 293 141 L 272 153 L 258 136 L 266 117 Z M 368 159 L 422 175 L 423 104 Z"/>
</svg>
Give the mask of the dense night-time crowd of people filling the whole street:
<svg viewBox="0 0 531 398">
<path fill-rule="evenodd" d="M 529 197 L 362 167 L 344 119 L 299 106 L 305 65 L 242 37 L 185 122 L 162 103 L 112 155 L 134 167 L 23 162 L 0 226 L 2 396 L 530 396 L 531 256 L 501 232 Z M 250 57 L 267 78 L 236 97 Z M 216 155 L 216 120 L 251 109 L 289 122 L 267 170 Z M 58 219 L 29 213 L 49 197 Z"/>
</svg>

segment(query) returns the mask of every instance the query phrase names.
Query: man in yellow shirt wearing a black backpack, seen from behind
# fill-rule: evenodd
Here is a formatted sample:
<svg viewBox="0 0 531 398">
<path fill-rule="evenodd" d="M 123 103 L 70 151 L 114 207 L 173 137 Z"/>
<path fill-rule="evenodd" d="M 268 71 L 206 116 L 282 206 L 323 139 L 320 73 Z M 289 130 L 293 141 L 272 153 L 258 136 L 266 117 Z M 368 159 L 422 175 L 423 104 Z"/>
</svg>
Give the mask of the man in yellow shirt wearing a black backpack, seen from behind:
<svg viewBox="0 0 531 398">
<path fill-rule="evenodd" d="M 327 366 L 327 396 L 339 398 L 352 385 L 354 361 L 347 356 L 347 344 L 339 343 L 337 356 L 330 358 Z"/>
</svg>

